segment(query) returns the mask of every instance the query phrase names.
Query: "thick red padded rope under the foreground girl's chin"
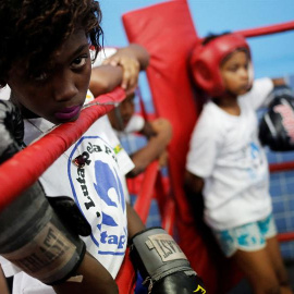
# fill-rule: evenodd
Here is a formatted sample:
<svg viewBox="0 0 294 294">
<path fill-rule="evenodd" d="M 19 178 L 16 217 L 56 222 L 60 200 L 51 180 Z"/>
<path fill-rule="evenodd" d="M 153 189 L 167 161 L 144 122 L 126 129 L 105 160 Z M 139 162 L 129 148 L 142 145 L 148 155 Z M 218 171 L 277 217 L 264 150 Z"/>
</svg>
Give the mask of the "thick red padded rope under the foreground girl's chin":
<svg viewBox="0 0 294 294">
<path fill-rule="evenodd" d="M 118 87 L 97 97 L 91 103 L 120 102 L 125 91 Z M 63 123 L 36 143 L 13 156 L 0 167 L 0 210 L 15 199 L 74 144 L 113 105 L 96 105 L 82 110 L 75 122 Z"/>
</svg>

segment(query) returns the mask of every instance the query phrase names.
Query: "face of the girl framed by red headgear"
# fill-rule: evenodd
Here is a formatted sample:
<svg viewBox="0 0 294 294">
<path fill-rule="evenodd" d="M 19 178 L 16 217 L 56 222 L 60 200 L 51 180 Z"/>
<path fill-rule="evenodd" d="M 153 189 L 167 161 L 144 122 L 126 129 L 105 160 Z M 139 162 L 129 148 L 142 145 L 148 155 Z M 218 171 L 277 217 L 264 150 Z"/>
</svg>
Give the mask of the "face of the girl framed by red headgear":
<svg viewBox="0 0 294 294">
<path fill-rule="evenodd" d="M 249 58 L 244 51 L 233 52 L 220 66 L 225 89 L 233 95 L 243 95 L 250 88 Z"/>
</svg>

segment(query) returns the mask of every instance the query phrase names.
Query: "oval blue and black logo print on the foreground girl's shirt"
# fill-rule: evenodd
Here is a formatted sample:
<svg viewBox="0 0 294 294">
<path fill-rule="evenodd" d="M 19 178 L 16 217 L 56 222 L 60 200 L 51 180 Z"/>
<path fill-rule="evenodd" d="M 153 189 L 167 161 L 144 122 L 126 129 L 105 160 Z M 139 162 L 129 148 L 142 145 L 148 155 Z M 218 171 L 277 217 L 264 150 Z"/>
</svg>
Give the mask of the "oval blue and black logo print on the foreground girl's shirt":
<svg viewBox="0 0 294 294">
<path fill-rule="evenodd" d="M 75 167 L 69 161 L 69 177 L 73 196 L 91 225 L 95 250 L 99 255 L 124 255 L 126 207 L 115 154 L 96 136 L 82 137 L 71 159 L 76 156 L 77 148 L 87 160 L 84 167 Z"/>
</svg>

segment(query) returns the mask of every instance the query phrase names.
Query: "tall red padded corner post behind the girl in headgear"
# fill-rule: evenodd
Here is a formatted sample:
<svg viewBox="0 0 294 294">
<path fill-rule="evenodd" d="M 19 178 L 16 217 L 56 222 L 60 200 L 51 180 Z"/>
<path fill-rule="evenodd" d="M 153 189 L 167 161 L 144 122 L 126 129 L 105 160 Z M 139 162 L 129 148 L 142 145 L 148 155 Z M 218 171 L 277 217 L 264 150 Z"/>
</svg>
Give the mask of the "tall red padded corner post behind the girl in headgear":
<svg viewBox="0 0 294 294">
<path fill-rule="evenodd" d="M 194 99 L 187 68 L 188 54 L 198 39 L 187 2 L 173 0 L 128 12 L 123 15 L 123 24 L 130 42 L 144 46 L 150 53 L 147 77 L 155 108 L 173 126 L 169 160 L 180 245 L 203 277 L 208 293 L 224 293 L 221 289 L 232 284 L 234 274 L 228 261 L 208 249 L 210 244 L 196 231 L 183 189 L 189 136 L 200 107 Z"/>
</svg>

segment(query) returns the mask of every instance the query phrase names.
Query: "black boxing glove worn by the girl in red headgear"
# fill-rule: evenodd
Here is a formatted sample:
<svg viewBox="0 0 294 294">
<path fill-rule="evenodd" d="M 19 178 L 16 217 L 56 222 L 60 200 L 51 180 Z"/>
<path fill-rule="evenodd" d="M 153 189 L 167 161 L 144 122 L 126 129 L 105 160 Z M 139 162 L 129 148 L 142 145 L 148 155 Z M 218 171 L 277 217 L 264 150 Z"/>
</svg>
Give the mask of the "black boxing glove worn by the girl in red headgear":
<svg viewBox="0 0 294 294">
<path fill-rule="evenodd" d="M 294 150 L 294 96 L 287 86 L 272 91 L 272 101 L 259 124 L 259 139 L 273 151 Z"/>
</svg>

